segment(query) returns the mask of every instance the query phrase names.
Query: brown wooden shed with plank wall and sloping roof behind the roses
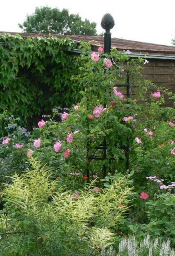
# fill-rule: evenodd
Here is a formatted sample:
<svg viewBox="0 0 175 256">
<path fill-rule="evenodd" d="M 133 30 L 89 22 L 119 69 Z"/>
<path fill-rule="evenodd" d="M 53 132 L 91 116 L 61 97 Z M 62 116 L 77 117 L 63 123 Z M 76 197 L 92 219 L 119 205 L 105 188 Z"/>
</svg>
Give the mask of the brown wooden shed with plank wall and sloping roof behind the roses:
<svg viewBox="0 0 175 256">
<path fill-rule="evenodd" d="M 10 33 L 15 35 L 17 33 L 1 32 L 0 34 Z M 32 34 L 32 33 L 18 33 L 22 37 L 36 37 L 43 36 L 48 37 L 45 34 Z M 65 38 L 66 35 L 54 35 L 59 38 Z M 75 42 L 85 40 L 95 46 L 103 46 L 104 38 L 102 36 L 68 36 Z M 151 80 L 155 84 L 161 87 L 169 89 L 171 92 L 175 92 L 175 47 L 150 44 L 147 42 L 139 42 L 132 40 L 125 40 L 119 38 L 112 38 L 112 48 L 118 49 L 119 52 L 125 52 L 130 50 L 129 54 L 132 58 L 144 57 L 149 60 L 149 63 L 145 65 L 142 70 L 143 78 Z M 75 49 L 75 53 L 78 52 Z M 173 101 L 165 99 L 166 106 L 172 106 Z"/>
</svg>

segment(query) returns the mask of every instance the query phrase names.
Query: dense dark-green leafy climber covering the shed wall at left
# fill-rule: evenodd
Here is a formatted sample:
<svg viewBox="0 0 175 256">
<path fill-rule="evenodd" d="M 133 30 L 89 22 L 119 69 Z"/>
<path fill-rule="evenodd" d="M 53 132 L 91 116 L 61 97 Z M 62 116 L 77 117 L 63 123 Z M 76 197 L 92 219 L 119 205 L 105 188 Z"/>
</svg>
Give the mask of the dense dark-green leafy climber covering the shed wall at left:
<svg viewBox="0 0 175 256">
<path fill-rule="evenodd" d="M 73 41 L 6 34 L 0 42 L 1 113 L 29 123 L 54 106 L 76 103 L 79 88 L 71 77 L 78 72 L 78 57 L 65 51 L 75 48 Z"/>
</svg>

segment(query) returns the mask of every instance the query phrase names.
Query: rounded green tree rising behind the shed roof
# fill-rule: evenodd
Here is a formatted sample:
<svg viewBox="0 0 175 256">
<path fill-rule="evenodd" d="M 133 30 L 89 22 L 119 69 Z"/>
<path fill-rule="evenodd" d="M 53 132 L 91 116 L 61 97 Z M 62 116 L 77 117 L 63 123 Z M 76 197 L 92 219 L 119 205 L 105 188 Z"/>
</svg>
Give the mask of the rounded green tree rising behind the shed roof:
<svg viewBox="0 0 175 256">
<path fill-rule="evenodd" d="M 78 14 L 70 14 L 67 9 L 37 7 L 32 15 L 27 15 L 23 24 L 18 24 L 24 32 L 63 34 L 63 35 L 97 35 L 96 23 L 88 19 L 81 20 Z"/>
</svg>

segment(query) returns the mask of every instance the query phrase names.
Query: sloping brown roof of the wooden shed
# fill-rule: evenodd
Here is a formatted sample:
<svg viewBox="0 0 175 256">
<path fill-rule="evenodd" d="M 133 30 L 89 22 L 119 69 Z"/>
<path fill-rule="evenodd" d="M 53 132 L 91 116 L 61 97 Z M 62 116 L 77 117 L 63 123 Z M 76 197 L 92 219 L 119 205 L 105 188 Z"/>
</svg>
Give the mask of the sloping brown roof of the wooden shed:
<svg viewBox="0 0 175 256">
<path fill-rule="evenodd" d="M 11 35 L 19 34 L 22 37 L 36 37 L 39 34 L 33 33 L 14 33 L 14 32 L 1 32 L 0 34 L 10 33 Z M 40 34 L 40 36 L 48 37 L 46 34 Z M 58 35 L 54 34 L 55 37 L 65 38 L 69 37 L 72 40 L 80 41 L 85 40 L 86 42 L 92 41 L 92 44 L 103 45 L 104 38 L 102 36 L 74 36 L 74 35 Z M 120 38 L 112 38 L 111 39 L 112 47 L 123 51 L 129 49 L 130 51 L 134 52 L 144 52 L 148 54 L 161 54 L 161 55 L 175 55 L 175 47 L 174 46 L 166 46 L 166 45 L 157 45 L 151 44 L 148 42 L 139 42 L 139 41 L 132 41 L 132 40 L 125 40 Z"/>
</svg>

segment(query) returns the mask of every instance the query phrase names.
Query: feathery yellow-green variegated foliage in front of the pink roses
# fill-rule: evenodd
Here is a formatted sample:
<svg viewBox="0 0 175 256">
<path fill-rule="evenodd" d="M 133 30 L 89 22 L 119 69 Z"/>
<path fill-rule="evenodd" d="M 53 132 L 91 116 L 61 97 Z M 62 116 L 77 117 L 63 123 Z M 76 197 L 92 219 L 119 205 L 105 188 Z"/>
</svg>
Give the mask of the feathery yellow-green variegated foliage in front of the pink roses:
<svg viewBox="0 0 175 256">
<path fill-rule="evenodd" d="M 13 175 L 3 191 L 0 253 L 17 255 L 97 255 L 114 240 L 133 188 L 116 176 L 110 188 L 96 182 L 74 193 L 51 179 L 51 170 L 30 158 L 32 169 Z M 120 204 L 123 207 L 120 207 Z"/>
</svg>

